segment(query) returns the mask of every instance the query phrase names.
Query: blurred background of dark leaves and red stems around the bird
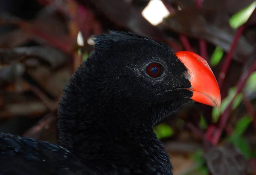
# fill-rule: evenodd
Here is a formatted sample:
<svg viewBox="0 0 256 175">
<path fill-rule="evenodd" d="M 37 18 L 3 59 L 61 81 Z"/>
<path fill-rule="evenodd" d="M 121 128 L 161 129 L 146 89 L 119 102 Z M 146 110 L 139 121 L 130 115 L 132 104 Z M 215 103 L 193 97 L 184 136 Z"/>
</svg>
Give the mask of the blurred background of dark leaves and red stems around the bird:
<svg viewBox="0 0 256 175">
<path fill-rule="evenodd" d="M 256 175 L 256 1 L 0 0 L 0 132 L 58 141 L 62 89 L 91 35 L 136 32 L 211 66 L 219 110 L 193 103 L 155 126 L 175 175 Z"/>
</svg>

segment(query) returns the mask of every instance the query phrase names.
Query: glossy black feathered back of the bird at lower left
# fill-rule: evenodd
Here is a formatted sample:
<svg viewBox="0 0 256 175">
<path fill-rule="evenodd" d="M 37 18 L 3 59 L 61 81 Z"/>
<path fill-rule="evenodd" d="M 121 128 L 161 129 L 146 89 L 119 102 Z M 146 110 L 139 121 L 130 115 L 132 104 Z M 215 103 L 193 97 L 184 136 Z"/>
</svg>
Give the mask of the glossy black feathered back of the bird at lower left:
<svg viewBox="0 0 256 175">
<path fill-rule="evenodd" d="M 89 167 L 61 146 L 0 133 L 0 175 L 92 175 Z"/>
</svg>

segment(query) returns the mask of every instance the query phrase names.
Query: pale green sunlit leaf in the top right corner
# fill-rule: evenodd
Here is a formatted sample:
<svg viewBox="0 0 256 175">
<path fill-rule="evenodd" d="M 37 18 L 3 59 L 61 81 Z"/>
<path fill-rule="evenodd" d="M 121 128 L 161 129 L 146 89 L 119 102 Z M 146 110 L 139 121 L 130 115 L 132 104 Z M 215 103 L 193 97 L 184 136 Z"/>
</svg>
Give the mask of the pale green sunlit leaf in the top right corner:
<svg viewBox="0 0 256 175">
<path fill-rule="evenodd" d="M 239 10 L 236 14 L 234 14 L 230 20 L 230 26 L 234 29 L 237 29 L 249 19 L 250 15 L 253 13 L 256 7 L 256 1 L 245 7 L 244 9 Z"/>
</svg>

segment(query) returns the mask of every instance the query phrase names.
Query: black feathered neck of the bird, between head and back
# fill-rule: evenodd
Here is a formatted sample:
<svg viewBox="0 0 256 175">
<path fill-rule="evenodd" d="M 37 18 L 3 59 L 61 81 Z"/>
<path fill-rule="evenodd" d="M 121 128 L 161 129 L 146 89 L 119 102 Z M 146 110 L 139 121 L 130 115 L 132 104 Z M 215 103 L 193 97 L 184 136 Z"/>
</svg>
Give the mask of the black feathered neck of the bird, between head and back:
<svg viewBox="0 0 256 175">
<path fill-rule="evenodd" d="M 153 131 L 153 112 L 114 91 L 114 77 L 97 75 L 94 64 L 88 58 L 64 88 L 59 144 L 105 172 L 171 175 L 168 153 Z"/>
</svg>

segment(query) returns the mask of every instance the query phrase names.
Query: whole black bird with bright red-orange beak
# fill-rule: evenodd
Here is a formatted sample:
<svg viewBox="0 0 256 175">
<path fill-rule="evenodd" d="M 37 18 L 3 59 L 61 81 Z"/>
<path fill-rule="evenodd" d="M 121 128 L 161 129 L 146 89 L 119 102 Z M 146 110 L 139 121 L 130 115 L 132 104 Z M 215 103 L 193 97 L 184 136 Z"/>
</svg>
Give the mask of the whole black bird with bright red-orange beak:
<svg viewBox="0 0 256 175">
<path fill-rule="evenodd" d="M 59 145 L 0 134 L 0 175 L 172 175 L 153 126 L 193 100 L 220 105 L 207 62 L 134 33 L 95 37 L 64 88 Z"/>
</svg>

